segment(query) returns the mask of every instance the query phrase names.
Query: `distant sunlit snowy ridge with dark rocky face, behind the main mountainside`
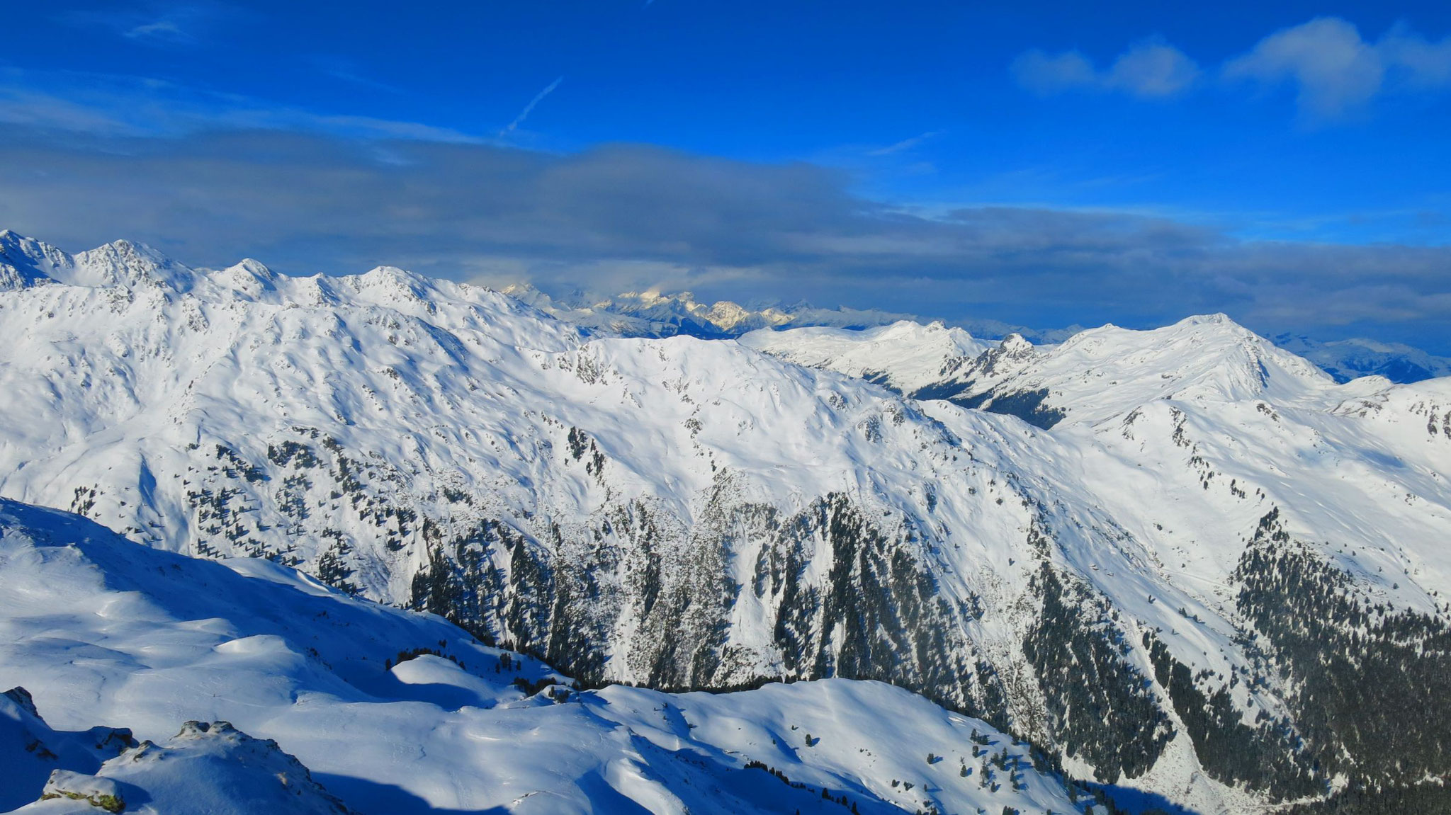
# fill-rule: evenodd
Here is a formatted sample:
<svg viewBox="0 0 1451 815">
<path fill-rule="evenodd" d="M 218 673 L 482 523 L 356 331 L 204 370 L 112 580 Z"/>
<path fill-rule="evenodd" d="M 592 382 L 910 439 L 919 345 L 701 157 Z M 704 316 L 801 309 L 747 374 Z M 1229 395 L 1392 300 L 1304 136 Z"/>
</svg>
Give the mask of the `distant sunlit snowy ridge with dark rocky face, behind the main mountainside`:
<svg viewBox="0 0 1451 815">
<path fill-rule="evenodd" d="M 1348 393 L 1329 387 L 1332 378 L 1306 360 L 1225 315 L 1187 318 L 1154 331 L 1106 325 L 1051 347 L 1033 347 L 1017 335 L 982 347 L 962 331 L 916 323 L 826 336 L 818 329 L 759 331 L 741 344 L 860 376 L 916 399 L 1011 413 L 1042 428 L 1064 419 L 1113 421 L 1162 399 L 1325 402 Z"/>
</svg>

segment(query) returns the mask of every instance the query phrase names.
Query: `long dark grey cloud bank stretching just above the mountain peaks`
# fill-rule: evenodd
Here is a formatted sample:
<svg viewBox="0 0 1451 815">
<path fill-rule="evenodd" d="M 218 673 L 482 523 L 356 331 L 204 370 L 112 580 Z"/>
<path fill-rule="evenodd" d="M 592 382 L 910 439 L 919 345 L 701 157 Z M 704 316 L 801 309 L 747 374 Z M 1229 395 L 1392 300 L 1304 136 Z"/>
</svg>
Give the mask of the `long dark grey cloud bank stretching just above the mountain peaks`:
<svg viewBox="0 0 1451 815">
<path fill-rule="evenodd" d="M 1451 248 L 1236 241 L 1113 212 L 923 213 L 810 164 L 650 146 L 557 155 L 279 131 L 0 131 L 0 226 L 68 249 L 145 241 L 199 265 L 395 264 L 548 289 L 694 289 L 940 318 L 1148 326 L 1228 312 L 1262 334 L 1451 351 Z"/>
</svg>

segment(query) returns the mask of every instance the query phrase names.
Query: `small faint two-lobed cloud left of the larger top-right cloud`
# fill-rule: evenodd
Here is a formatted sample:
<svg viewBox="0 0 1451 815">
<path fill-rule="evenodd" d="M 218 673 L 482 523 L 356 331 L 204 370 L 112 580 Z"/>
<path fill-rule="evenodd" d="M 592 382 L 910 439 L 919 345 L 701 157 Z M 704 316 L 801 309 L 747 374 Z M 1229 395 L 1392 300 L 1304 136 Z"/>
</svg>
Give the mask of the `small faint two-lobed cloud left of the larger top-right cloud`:
<svg viewBox="0 0 1451 815">
<path fill-rule="evenodd" d="M 1019 84 L 1045 96 L 1084 88 L 1167 99 L 1194 84 L 1200 70 L 1178 48 L 1145 41 L 1120 54 L 1104 71 L 1078 51 L 1048 54 L 1035 48 L 1013 61 L 1013 74 Z"/>
</svg>

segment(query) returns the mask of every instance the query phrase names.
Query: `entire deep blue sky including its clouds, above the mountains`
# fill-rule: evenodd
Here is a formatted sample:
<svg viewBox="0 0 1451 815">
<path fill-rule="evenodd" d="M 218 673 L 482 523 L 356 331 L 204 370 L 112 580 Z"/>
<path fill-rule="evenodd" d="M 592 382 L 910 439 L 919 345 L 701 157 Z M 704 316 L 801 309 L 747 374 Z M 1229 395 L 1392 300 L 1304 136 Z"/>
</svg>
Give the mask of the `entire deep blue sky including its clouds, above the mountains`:
<svg viewBox="0 0 1451 815">
<path fill-rule="evenodd" d="M 6 6 L 68 249 L 1451 349 L 1447 3 Z"/>
</svg>

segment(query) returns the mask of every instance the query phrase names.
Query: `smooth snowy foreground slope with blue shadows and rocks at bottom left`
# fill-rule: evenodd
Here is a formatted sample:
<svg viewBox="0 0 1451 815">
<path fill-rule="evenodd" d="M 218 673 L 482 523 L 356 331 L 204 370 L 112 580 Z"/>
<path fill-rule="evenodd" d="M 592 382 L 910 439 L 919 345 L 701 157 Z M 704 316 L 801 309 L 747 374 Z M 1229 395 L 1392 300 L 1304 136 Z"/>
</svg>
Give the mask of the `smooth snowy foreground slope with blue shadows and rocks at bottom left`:
<svg viewBox="0 0 1451 815">
<path fill-rule="evenodd" d="M 418 648 L 447 658 L 392 663 Z M 4 773 L 6 809 L 42 787 L 58 798 L 20 812 L 94 812 L 84 799 L 102 796 L 218 814 L 1071 808 L 1026 745 L 879 683 L 672 696 L 550 679 L 435 616 L 267 561 L 147 550 L 0 500 L 0 683 L 35 693 L 0 698 L 0 750 L 41 740 L 26 756 L 49 750 L 30 760 L 54 771 Z M 94 722 L 148 741 L 64 732 Z"/>
</svg>

